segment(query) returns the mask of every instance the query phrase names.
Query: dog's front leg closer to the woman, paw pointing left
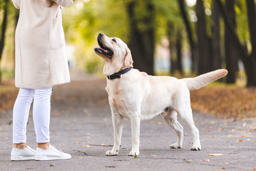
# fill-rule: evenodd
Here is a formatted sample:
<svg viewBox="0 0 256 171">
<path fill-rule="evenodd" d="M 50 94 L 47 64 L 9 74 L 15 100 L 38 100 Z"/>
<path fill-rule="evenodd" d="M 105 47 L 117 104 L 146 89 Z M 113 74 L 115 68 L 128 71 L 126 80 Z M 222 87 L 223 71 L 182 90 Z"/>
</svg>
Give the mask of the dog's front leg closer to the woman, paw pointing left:
<svg viewBox="0 0 256 171">
<path fill-rule="evenodd" d="M 108 150 L 105 153 L 106 156 L 116 156 L 119 152 L 123 128 L 123 116 L 118 112 L 112 112 L 112 123 L 114 128 L 114 146 L 111 151 Z"/>
</svg>

